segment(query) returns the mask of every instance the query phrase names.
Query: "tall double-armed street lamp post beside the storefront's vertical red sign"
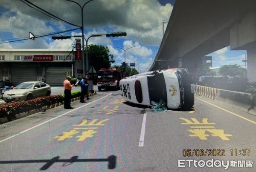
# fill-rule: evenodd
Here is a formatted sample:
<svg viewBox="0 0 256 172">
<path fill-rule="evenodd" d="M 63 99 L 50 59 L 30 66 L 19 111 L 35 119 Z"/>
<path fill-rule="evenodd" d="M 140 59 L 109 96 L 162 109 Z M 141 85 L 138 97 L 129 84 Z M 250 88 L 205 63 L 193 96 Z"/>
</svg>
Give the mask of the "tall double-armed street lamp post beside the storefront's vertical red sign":
<svg viewBox="0 0 256 172">
<path fill-rule="evenodd" d="M 67 1 L 70 1 L 70 2 L 73 2 L 73 3 L 76 3 L 80 9 L 81 9 L 81 15 L 82 15 L 82 26 L 80 27 L 80 29 L 82 30 L 82 36 L 84 37 L 84 6 L 93 1 L 93 0 L 88 0 L 86 3 L 84 3 L 83 6 L 81 6 L 79 3 L 73 1 L 73 0 L 67 0 Z M 82 47 L 83 47 L 83 53 L 82 53 L 82 62 L 83 62 L 83 76 L 85 76 L 85 65 L 84 65 L 84 39 L 82 39 Z M 88 70 L 88 57 L 86 56 L 86 70 Z"/>
</svg>

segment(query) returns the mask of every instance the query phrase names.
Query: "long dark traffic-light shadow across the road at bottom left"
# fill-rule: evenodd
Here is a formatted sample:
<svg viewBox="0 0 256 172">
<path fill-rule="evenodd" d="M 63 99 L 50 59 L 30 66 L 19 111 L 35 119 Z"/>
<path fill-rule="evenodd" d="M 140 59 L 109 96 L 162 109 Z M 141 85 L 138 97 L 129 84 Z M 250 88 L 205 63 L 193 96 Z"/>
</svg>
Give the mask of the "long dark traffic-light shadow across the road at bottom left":
<svg viewBox="0 0 256 172">
<path fill-rule="evenodd" d="M 40 168 L 40 170 L 47 170 L 54 163 L 64 164 L 62 166 L 68 166 L 76 162 L 105 162 L 108 161 L 108 169 L 116 168 L 116 156 L 111 155 L 108 158 L 99 158 L 99 159 L 78 159 L 78 156 L 73 156 L 70 159 L 59 159 L 60 157 L 54 157 L 49 160 L 17 160 L 17 161 L 0 161 L 0 164 L 9 164 L 9 163 L 46 163 Z"/>
</svg>

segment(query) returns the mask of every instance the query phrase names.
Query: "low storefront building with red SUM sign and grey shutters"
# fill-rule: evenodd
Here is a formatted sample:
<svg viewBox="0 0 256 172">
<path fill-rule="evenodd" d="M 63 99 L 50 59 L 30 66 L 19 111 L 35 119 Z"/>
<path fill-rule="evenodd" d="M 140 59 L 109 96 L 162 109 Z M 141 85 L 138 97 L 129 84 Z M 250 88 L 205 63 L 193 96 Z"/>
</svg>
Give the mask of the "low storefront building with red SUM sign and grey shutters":
<svg viewBox="0 0 256 172">
<path fill-rule="evenodd" d="M 75 60 L 75 54 L 67 50 L 0 49 L 0 80 L 14 85 L 37 80 L 62 86 L 66 76 L 82 73 L 81 60 Z"/>
</svg>

